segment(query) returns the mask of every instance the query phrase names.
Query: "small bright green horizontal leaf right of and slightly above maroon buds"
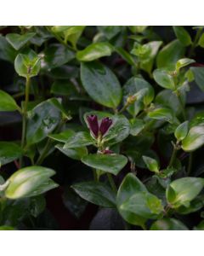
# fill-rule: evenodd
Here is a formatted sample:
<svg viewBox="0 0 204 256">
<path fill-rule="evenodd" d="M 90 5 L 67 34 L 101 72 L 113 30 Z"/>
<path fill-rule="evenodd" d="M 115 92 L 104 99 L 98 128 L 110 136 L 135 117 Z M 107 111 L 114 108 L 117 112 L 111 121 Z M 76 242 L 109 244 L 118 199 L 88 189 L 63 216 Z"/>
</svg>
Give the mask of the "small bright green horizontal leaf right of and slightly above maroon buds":
<svg viewBox="0 0 204 256">
<path fill-rule="evenodd" d="M 148 113 L 151 119 L 164 119 L 167 122 L 173 121 L 173 111 L 170 108 L 155 108 Z"/>
</svg>

